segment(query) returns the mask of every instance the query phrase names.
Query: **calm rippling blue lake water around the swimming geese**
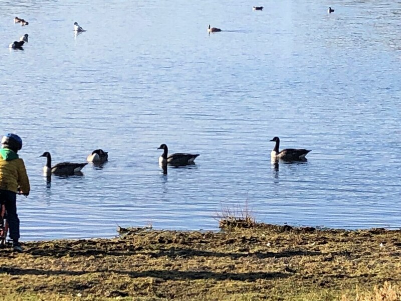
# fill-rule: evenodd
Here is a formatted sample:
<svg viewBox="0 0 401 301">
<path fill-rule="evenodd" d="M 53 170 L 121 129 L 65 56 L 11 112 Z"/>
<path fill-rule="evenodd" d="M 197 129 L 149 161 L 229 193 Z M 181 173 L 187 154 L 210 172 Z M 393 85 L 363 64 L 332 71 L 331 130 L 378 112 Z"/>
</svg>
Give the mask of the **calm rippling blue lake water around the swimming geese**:
<svg viewBox="0 0 401 301">
<path fill-rule="evenodd" d="M 401 2 L 68 3 L 0 3 L 0 131 L 23 137 L 32 186 L 23 240 L 218 229 L 246 204 L 268 223 L 401 227 Z M 308 162 L 274 169 L 273 136 Z M 197 164 L 163 176 L 161 143 Z M 56 164 L 95 148 L 103 169 L 46 187 L 44 151 Z"/>
</svg>

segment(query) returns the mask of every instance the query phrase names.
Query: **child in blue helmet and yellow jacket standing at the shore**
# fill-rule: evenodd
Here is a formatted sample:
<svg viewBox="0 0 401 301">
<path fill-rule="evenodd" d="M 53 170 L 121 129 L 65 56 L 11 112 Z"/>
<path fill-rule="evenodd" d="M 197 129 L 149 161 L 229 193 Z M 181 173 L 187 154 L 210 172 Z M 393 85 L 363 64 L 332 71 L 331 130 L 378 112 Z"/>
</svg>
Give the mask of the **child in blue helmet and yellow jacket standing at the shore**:
<svg viewBox="0 0 401 301">
<path fill-rule="evenodd" d="M 0 149 L 0 203 L 6 206 L 10 238 L 13 249 L 22 252 L 19 243 L 20 219 L 17 215 L 17 193 L 29 195 L 30 185 L 24 160 L 18 158 L 22 139 L 16 134 L 6 134 Z"/>
</svg>

